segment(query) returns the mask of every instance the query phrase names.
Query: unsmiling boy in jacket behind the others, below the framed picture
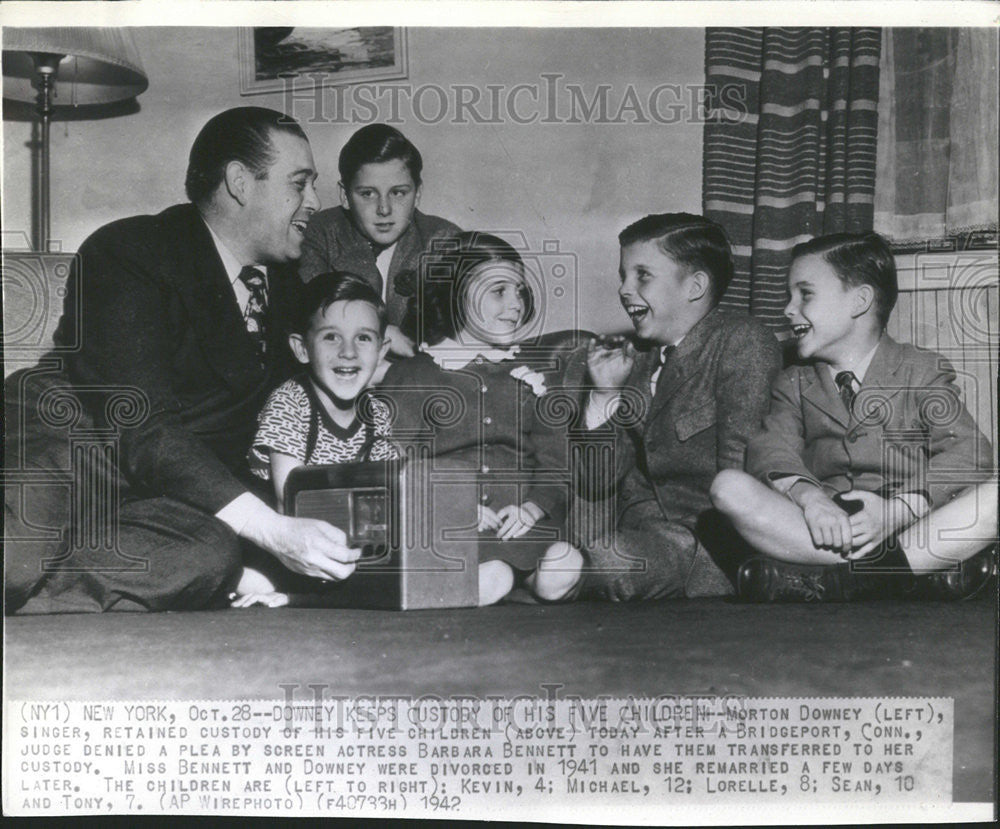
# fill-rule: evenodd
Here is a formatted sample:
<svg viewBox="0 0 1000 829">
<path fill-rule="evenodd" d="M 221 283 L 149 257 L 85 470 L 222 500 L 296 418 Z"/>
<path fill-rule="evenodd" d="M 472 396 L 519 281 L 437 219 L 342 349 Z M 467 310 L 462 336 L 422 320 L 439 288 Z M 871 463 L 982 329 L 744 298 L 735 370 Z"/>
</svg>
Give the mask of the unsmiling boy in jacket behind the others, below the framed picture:
<svg viewBox="0 0 1000 829">
<path fill-rule="evenodd" d="M 400 330 L 408 299 L 417 294 L 420 256 L 431 241 L 459 228 L 417 210 L 423 189 L 420 151 L 395 127 L 369 124 L 340 151 L 340 206 L 312 217 L 299 274 L 357 274 L 385 302 L 391 351 L 403 357 L 414 343 Z"/>
</svg>

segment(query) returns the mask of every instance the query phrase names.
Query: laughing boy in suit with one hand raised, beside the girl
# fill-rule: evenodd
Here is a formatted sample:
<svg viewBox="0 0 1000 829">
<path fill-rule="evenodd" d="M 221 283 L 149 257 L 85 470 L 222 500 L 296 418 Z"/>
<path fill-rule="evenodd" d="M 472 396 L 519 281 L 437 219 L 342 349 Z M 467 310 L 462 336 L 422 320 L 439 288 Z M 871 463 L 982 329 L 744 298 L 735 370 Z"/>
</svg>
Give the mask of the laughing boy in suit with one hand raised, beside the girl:
<svg viewBox="0 0 1000 829">
<path fill-rule="evenodd" d="M 580 596 L 726 595 L 733 588 L 713 554 L 727 534 L 709 487 L 720 469 L 743 467 L 780 367 L 778 343 L 754 319 L 716 307 L 733 264 L 714 222 L 647 216 L 619 242 L 618 294 L 648 347 L 590 350 L 588 440 L 613 440 L 606 472 L 617 501 L 614 532 L 585 545 Z"/>
</svg>

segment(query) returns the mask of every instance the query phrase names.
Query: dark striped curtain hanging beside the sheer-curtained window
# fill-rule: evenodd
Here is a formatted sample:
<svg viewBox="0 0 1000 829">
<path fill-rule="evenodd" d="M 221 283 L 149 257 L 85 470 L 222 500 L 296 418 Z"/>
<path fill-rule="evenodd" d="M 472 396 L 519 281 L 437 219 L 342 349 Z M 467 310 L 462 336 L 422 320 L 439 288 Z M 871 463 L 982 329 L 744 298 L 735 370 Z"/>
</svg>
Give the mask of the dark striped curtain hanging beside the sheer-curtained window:
<svg viewBox="0 0 1000 829">
<path fill-rule="evenodd" d="M 703 210 L 729 234 L 723 307 L 782 329 L 791 249 L 870 230 L 876 28 L 708 29 Z"/>
</svg>

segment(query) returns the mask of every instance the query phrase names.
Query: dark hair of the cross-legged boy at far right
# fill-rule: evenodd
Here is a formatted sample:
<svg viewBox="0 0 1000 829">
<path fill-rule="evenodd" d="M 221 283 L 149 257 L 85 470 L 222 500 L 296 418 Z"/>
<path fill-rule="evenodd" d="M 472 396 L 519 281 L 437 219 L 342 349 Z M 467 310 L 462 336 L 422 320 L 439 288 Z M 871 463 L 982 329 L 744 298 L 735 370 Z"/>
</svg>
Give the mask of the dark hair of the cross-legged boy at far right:
<svg viewBox="0 0 1000 829">
<path fill-rule="evenodd" d="M 873 231 L 831 233 L 792 248 L 793 261 L 811 255 L 821 256 L 847 285 L 871 285 L 875 290 L 875 315 L 885 328 L 899 296 L 896 260 L 885 239 Z"/>
</svg>

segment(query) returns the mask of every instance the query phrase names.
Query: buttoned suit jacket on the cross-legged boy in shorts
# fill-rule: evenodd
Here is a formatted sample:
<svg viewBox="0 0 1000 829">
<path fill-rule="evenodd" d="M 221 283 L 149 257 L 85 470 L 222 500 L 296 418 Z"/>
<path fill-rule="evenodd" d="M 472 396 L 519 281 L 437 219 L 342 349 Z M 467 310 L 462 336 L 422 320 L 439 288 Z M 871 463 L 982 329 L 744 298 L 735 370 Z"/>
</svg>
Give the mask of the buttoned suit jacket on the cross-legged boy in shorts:
<svg viewBox="0 0 1000 829">
<path fill-rule="evenodd" d="M 850 412 L 827 366 L 782 372 L 747 453 L 747 471 L 764 482 L 795 475 L 829 493 L 920 492 L 932 505 L 984 480 L 992 467 L 989 441 L 961 402 L 951 364 L 888 335 Z"/>
</svg>

